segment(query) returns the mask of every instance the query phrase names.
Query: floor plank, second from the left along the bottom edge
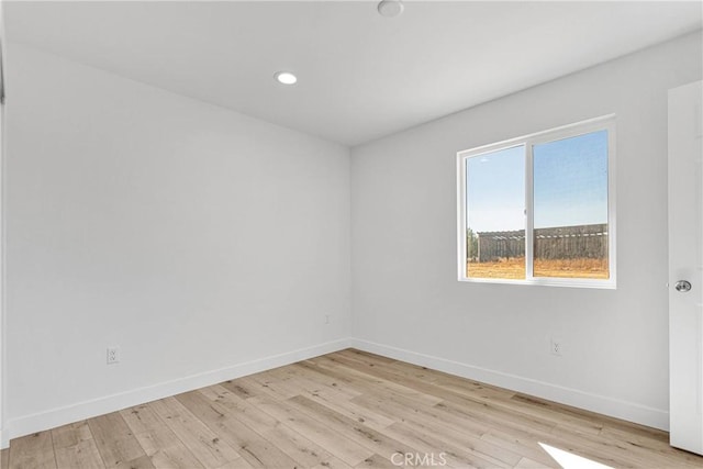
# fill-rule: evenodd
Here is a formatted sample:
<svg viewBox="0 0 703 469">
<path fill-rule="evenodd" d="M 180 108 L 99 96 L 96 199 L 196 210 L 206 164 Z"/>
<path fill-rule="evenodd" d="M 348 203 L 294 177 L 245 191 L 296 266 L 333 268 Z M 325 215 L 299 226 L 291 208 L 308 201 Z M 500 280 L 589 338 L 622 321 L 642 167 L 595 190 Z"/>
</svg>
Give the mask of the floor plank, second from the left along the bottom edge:
<svg viewBox="0 0 703 469">
<path fill-rule="evenodd" d="M 99 469 L 105 465 L 87 421 L 52 429 L 58 469 Z"/>
</svg>

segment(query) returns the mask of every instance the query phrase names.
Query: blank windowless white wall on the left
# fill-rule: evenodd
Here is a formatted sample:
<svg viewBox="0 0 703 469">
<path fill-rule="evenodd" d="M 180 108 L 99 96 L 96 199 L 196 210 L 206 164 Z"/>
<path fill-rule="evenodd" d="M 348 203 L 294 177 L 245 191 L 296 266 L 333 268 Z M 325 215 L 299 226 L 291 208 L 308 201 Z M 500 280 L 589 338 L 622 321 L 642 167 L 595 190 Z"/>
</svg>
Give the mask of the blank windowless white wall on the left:
<svg viewBox="0 0 703 469">
<path fill-rule="evenodd" d="M 18 44 L 8 59 L 12 437 L 344 347 L 347 148 Z"/>
</svg>

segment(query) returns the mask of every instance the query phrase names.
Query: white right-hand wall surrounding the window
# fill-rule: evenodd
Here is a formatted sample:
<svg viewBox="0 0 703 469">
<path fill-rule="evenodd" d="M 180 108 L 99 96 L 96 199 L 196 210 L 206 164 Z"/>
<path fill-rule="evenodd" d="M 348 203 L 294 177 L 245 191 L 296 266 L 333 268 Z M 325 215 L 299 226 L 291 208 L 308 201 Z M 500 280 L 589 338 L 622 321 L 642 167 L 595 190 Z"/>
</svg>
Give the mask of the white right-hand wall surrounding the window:
<svg viewBox="0 0 703 469">
<path fill-rule="evenodd" d="M 689 35 L 354 148 L 358 346 L 667 427 L 667 90 L 701 79 L 701 43 Z M 617 290 L 458 282 L 456 152 L 609 113 Z M 548 354 L 551 335 L 562 357 Z"/>
</svg>

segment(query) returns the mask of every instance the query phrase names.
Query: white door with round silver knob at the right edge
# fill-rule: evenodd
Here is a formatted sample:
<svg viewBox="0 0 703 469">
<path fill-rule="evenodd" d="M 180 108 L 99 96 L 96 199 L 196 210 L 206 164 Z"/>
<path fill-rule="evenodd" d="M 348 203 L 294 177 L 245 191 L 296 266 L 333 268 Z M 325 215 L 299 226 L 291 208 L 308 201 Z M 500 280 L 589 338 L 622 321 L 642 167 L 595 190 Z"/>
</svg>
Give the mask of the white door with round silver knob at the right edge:
<svg viewBox="0 0 703 469">
<path fill-rule="evenodd" d="M 703 82 L 669 90 L 669 423 L 703 454 Z"/>
</svg>

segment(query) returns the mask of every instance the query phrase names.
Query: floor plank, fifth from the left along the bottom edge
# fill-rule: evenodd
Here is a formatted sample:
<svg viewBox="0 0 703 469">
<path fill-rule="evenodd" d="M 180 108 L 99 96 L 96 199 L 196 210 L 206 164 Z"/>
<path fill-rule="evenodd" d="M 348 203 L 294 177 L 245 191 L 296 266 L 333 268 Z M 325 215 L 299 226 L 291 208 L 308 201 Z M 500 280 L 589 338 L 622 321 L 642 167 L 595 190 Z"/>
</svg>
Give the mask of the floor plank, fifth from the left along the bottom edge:
<svg viewBox="0 0 703 469">
<path fill-rule="evenodd" d="M 175 398 L 149 402 L 166 425 L 207 468 L 250 467 L 246 460 L 215 432 L 202 423 Z"/>
</svg>

